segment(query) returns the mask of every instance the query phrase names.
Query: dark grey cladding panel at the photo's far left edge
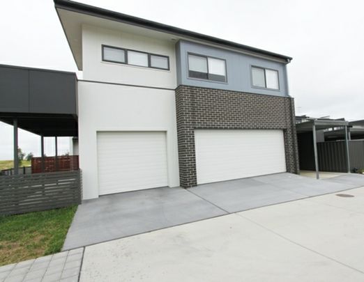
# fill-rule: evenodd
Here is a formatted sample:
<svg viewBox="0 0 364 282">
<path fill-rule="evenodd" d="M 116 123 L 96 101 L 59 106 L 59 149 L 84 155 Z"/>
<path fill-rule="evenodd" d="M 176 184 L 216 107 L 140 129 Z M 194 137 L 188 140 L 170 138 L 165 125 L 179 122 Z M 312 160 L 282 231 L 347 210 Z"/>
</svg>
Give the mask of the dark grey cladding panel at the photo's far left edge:
<svg viewBox="0 0 364 282">
<path fill-rule="evenodd" d="M 0 68 L 0 111 L 29 111 L 28 71 L 17 68 Z"/>
</svg>

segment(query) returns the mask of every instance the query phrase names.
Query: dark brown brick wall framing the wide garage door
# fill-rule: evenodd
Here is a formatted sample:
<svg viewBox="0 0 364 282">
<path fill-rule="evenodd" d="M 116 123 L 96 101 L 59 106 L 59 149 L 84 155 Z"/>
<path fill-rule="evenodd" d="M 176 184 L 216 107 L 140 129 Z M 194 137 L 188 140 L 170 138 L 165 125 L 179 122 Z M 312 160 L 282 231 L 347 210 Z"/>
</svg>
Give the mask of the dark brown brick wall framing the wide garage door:
<svg viewBox="0 0 364 282">
<path fill-rule="evenodd" d="M 197 185 L 196 129 L 284 130 L 287 171 L 299 171 L 291 97 L 179 86 L 176 88 L 176 114 L 182 187 Z"/>
</svg>

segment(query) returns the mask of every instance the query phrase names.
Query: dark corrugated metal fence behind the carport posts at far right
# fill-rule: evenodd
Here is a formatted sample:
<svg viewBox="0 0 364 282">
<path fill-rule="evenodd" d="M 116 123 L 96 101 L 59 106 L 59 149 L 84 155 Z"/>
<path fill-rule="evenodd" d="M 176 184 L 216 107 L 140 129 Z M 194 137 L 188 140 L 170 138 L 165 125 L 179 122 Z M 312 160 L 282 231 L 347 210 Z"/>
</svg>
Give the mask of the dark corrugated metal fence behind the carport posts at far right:
<svg viewBox="0 0 364 282">
<path fill-rule="evenodd" d="M 347 172 L 345 141 L 317 143 L 320 171 Z M 349 141 L 350 171 L 364 168 L 364 140 Z"/>
</svg>

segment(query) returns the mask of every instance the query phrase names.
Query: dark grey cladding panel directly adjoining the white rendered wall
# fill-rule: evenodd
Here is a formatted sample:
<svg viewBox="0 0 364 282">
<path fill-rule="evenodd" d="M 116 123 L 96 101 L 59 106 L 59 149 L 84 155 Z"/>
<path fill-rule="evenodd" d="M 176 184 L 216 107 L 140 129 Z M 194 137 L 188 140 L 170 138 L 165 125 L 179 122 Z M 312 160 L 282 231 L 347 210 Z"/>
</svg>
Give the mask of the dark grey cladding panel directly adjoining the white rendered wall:
<svg viewBox="0 0 364 282">
<path fill-rule="evenodd" d="M 32 113 L 76 113 L 75 76 L 56 72 L 30 70 Z"/>
</svg>

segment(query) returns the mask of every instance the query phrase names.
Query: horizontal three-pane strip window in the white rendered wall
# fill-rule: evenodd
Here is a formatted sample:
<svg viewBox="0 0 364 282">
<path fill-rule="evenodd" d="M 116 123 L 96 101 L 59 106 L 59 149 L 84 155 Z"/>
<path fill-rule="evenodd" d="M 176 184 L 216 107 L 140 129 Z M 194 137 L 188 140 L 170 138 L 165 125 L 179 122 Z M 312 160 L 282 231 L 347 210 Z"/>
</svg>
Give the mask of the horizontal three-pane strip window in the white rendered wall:
<svg viewBox="0 0 364 282">
<path fill-rule="evenodd" d="M 169 56 L 103 45 L 103 61 L 169 70 Z"/>
</svg>

